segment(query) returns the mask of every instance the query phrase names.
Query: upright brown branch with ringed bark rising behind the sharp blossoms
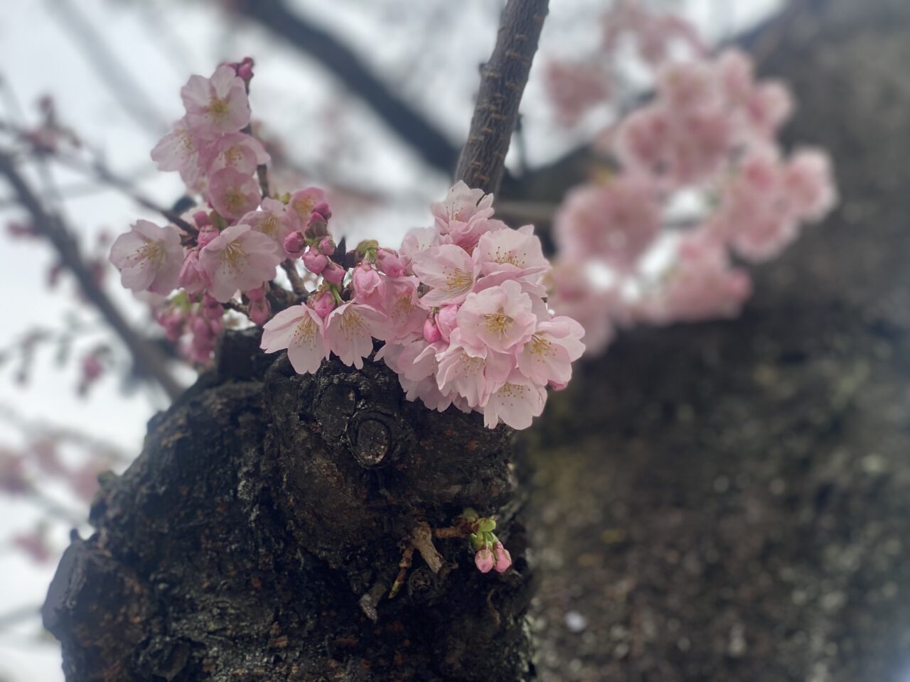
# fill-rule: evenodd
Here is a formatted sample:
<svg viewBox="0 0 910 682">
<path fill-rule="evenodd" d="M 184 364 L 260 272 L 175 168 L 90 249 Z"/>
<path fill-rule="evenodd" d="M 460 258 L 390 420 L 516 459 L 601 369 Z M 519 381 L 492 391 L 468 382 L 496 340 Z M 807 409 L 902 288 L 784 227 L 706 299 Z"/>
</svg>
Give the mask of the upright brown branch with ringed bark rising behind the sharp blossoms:
<svg viewBox="0 0 910 682">
<path fill-rule="evenodd" d="M 493 54 L 480 70 L 477 106 L 455 173 L 470 187 L 499 189 L 547 5 L 548 0 L 509 0 L 502 13 Z"/>
</svg>

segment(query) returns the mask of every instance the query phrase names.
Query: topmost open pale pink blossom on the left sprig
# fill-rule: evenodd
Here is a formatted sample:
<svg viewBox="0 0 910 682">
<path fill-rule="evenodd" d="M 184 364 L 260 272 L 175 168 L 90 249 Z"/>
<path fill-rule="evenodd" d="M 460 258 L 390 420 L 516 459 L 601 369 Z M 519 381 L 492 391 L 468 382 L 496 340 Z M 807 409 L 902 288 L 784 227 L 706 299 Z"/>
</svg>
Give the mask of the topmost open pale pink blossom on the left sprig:
<svg viewBox="0 0 910 682">
<path fill-rule="evenodd" d="M 211 78 L 190 76 L 180 96 L 187 124 L 200 137 L 238 133 L 249 123 L 247 88 L 230 66 L 218 66 Z"/>
</svg>

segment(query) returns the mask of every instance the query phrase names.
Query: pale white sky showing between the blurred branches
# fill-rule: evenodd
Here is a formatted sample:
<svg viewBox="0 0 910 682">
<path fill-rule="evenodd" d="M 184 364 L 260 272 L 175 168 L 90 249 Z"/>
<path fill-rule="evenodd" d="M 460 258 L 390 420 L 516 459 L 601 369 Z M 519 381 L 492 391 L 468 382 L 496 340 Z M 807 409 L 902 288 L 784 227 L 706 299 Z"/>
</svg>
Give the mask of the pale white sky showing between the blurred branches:
<svg viewBox="0 0 910 682">
<path fill-rule="evenodd" d="M 738 30 L 779 4 L 779 0 L 688 0 L 685 3 L 690 15 L 713 35 Z M 0 75 L 7 79 L 30 114 L 40 95 L 53 94 L 64 120 L 90 144 L 102 148 L 110 165 L 129 175 L 140 174 L 146 178 L 142 187 L 147 194 L 162 204 L 171 202 L 180 193 L 177 176 L 154 173 L 148 159 L 148 151 L 159 135 L 136 125 L 120 108 L 72 36 L 64 30 L 56 5 L 57 0 L 29 0 L 16 3 L 15 11 L 0 14 Z M 410 151 L 365 113 L 356 98 L 344 95 L 308 59 L 277 45 L 258 30 L 227 25 L 221 15 L 209 9 L 210 4 L 174 0 L 77 0 L 76 5 L 102 33 L 120 65 L 135 78 L 136 85 L 167 121 L 180 115 L 178 90 L 190 72 L 208 75 L 220 59 L 237 59 L 243 55 L 257 59 L 252 91 L 254 115 L 280 134 L 295 157 L 306 163 L 319 160 L 326 152 L 320 122 L 327 116 L 339 120 L 345 136 L 354 140 L 342 155 L 344 172 L 361 182 L 385 188 L 397 198 L 381 216 L 360 216 L 357 226 L 352 225 L 349 216 L 339 216 L 336 229 L 340 223 L 352 236 L 376 236 L 387 243 L 396 243 L 411 226 L 429 224 L 427 204 L 445 191 L 447 178 L 428 172 Z M 438 17 L 430 17 L 439 21 L 439 25 L 425 26 L 432 28 L 434 35 L 447 38 L 442 47 L 435 45 L 438 41 L 427 43 L 426 49 L 433 50 L 433 59 L 443 61 L 439 68 L 433 68 L 432 64 L 428 68 L 414 63 L 414 50 L 420 50 L 421 46 L 413 45 L 414 34 L 420 32 L 415 32 L 412 25 L 405 23 L 397 29 L 393 21 L 378 30 L 377 22 L 383 20 L 385 3 L 319 0 L 306 4 L 310 12 L 318 8 L 321 22 L 346 35 L 346 40 L 361 54 L 369 55 L 368 62 L 388 74 L 391 81 L 398 82 L 401 90 L 438 120 L 453 139 L 459 139 L 467 131 L 471 94 L 476 85 L 473 74 L 490 51 L 495 35 L 491 18 L 499 6 L 490 0 L 462 0 L 457 5 L 457 11 L 440 10 Z M 142 6 L 153 10 L 150 14 L 136 10 Z M 576 15 L 590 13 L 592 7 L 598 6 L 602 6 L 602 0 L 551 3 L 548 27 L 558 28 L 552 28 L 550 34 L 544 31 L 541 49 L 558 49 L 560 45 L 553 42 L 557 35 L 562 35 L 562 28 L 571 27 Z M 154 28 L 150 22 L 154 17 L 170 26 L 166 33 Z M 388 21 L 389 17 L 385 19 Z M 379 34 L 383 35 L 382 40 L 376 39 Z M 169 50 L 170 55 L 167 49 L 162 49 L 167 44 L 165 35 L 173 36 L 167 40 L 177 41 L 178 52 L 186 53 L 185 59 L 174 57 L 173 49 Z M 409 78 L 407 74 L 415 75 Z M 424 77 L 428 79 L 426 83 Z M 535 135 L 549 124 L 540 105 L 541 96 L 540 85 L 532 75 L 522 107 L 529 131 L 531 163 L 545 161 L 571 142 L 564 135 Z M 2 115 L 7 113 L 4 111 Z M 61 186 L 81 182 L 62 173 L 56 177 Z M 377 179 L 373 182 L 372 178 Z M 0 183 L 0 197 L 5 196 L 8 193 Z M 86 243 L 102 227 L 117 234 L 137 217 L 155 218 L 109 192 L 68 201 L 66 214 L 78 226 L 80 234 L 86 236 Z M 15 212 L 0 207 L 0 227 L 14 216 Z M 0 287 L 4 293 L 5 321 L 0 327 L 0 347 L 8 346 L 35 326 L 62 328 L 66 315 L 73 311 L 86 322 L 96 321 L 91 311 L 74 303 L 68 281 L 64 280 L 56 291 L 45 287 L 45 273 L 53 263 L 45 246 L 5 238 L 2 244 Z M 112 295 L 138 318 L 140 311 L 137 306 L 130 306 L 130 298 L 116 286 L 115 276 L 111 276 L 109 284 Z M 92 338 L 104 338 L 105 334 L 99 324 Z M 80 399 L 75 392 L 76 365 L 56 366 L 52 352 L 39 356 L 28 386 L 16 386 L 13 374 L 9 367 L 0 367 L 0 406 L 15 406 L 27 418 L 82 429 L 136 454 L 148 417 L 164 406 L 160 397 L 149 396 L 147 391 L 124 396 L 113 376 L 104 378 L 90 399 Z M 0 445 L 17 443 L 19 439 L 9 426 L 0 424 Z M 0 496 L 0 548 L 13 533 L 30 529 L 37 516 L 31 506 L 12 503 Z M 65 547 L 66 528 L 59 527 L 55 533 L 58 546 Z M 36 567 L 18 553 L 0 552 L 0 618 L 17 607 L 40 604 L 52 575 L 53 566 Z M 0 631 L 0 679 L 5 676 L 11 676 L 15 682 L 62 679 L 58 649 L 54 644 L 42 642 L 39 633 L 37 617 Z"/>
</svg>

